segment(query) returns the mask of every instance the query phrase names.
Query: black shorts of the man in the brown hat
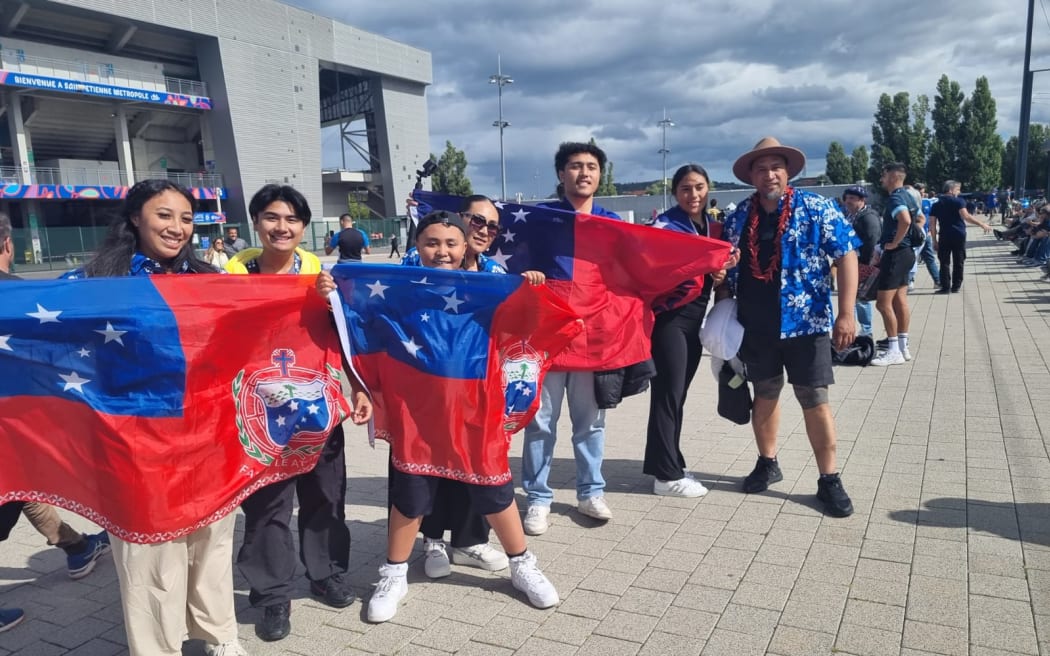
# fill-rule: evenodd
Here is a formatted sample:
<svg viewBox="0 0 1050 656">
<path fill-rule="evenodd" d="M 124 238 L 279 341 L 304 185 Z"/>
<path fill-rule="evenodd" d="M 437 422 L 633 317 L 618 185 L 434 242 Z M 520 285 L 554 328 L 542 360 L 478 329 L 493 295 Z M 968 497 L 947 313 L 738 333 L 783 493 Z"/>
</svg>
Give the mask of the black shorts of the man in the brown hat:
<svg viewBox="0 0 1050 656">
<path fill-rule="evenodd" d="M 832 339 L 826 333 L 778 339 L 746 331 L 739 357 L 752 382 L 776 378 L 785 369 L 793 385 L 824 387 L 835 382 Z"/>
</svg>

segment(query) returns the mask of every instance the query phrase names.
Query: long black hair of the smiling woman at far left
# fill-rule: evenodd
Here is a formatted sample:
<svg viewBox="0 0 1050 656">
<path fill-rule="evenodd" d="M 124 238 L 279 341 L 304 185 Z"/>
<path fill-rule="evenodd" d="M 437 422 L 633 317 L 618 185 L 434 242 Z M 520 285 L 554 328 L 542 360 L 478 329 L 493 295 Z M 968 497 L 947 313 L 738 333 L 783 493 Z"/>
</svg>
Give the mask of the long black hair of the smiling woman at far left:
<svg viewBox="0 0 1050 656">
<path fill-rule="evenodd" d="M 139 229 L 131 223 L 132 217 L 142 212 L 142 208 L 150 198 L 166 191 L 174 191 L 183 195 L 190 204 L 190 209 L 196 209 L 196 200 L 186 188 L 169 179 L 144 179 L 128 189 L 120 215 L 109 225 L 106 239 L 99 247 L 99 252 L 84 267 L 88 277 L 126 276 L 131 268 L 131 257 L 139 250 Z M 187 241 L 178 254 L 171 260 L 172 271 L 180 271 L 186 263 L 194 273 L 214 273 L 215 268 L 197 258 L 193 242 Z"/>
</svg>

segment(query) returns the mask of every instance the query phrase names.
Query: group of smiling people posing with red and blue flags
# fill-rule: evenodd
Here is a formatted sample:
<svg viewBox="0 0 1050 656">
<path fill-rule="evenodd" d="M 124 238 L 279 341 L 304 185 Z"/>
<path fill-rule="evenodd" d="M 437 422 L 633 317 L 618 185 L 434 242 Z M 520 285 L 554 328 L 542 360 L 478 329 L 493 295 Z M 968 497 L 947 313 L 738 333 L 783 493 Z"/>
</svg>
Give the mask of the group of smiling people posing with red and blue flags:
<svg viewBox="0 0 1050 656">
<path fill-rule="evenodd" d="M 710 178 L 702 167 L 687 165 L 674 174 L 676 206 L 656 218 L 654 229 L 723 239 L 734 247 L 734 254 L 722 270 L 684 281 L 653 308 L 655 377 L 642 470 L 653 477 L 656 494 L 697 498 L 707 492 L 688 471 L 681 452 L 685 402 L 700 359 L 699 325 L 709 299 L 735 298 L 743 329 L 739 359 L 755 395 L 751 423 L 757 446 L 757 461 L 742 481 L 742 491 L 760 493 L 783 479 L 777 431 L 786 374 L 786 382 L 802 407 L 819 469 L 816 499 L 832 516 L 846 516 L 854 511 L 838 472 L 828 386 L 834 382 L 832 347 L 845 347 L 856 334 L 852 309 L 861 240 L 832 200 L 789 184 L 804 164 L 800 150 L 773 137 L 761 140 L 733 167 L 734 174 L 756 191 L 726 214 L 724 223 L 708 212 Z M 554 156 L 563 194 L 547 207 L 618 219 L 594 202 L 606 165 L 605 153 L 593 144 L 563 144 Z M 898 172 L 890 173 L 891 179 L 903 179 Z M 892 272 L 892 278 L 887 279 L 887 300 L 880 302 L 880 311 L 892 306 L 901 280 L 906 287 L 907 270 L 914 261 L 911 245 L 902 234 L 906 217 L 901 216 L 912 211 L 907 209 L 912 206 L 904 199 L 900 203 L 905 209 L 895 207 L 889 211 L 898 221 L 889 223 L 882 236 L 883 246 L 892 247 L 883 249 L 883 263 L 888 264 L 886 270 Z M 195 255 L 191 240 L 193 207 L 189 192 L 168 181 L 135 184 L 97 255 L 83 270 L 66 277 L 216 273 L 216 267 Z M 248 209 L 259 246 L 250 248 L 227 240 L 226 272 L 316 275 L 318 293 L 327 296 L 335 289 L 318 258 L 300 247 L 311 210 L 298 191 L 267 185 L 252 197 Z M 343 230 L 348 228 L 352 226 Z M 426 213 L 418 223 L 415 248 L 406 252 L 402 263 L 506 273 L 499 262 L 485 256 L 500 231 L 500 215 L 494 203 L 484 196 L 471 196 L 458 213 Z M 335 235 L 329 248 L 341 251 L 349 239 L 340 235 Z M 236 252 L 230 254 L 231 250 Z M 2 223 L 0 253 L 13 253 L 9 228 L 5 235 Z M 0 263 L 3 261 L 0 258 Z M 840 308 L 834 317 L 833 262 Z M 544 282 L 540 272 L 523 275 L 528 283 Z M 351 397 L 353 422 L 366 422 L 371 401 L 353 377 Z M 530 604 L 538 608 L 558 604 L 558 592 L 529 552 L 526 535 L 543 534 L 550 528 L 553 489 L 549 477 L 563 402 L 568 405 L 571 420 L 578 511 L 598 522 L 613 517 L 602 473 L 606 417 L 595 396 L 595 373 L 559 369 L 555 361 L 540 390 L 539 410 L 524 430 L 524 519 L 514 503 L 512 482 L 485 486 L 420 475 L 398 469 L 392 458 L 387 552 L 369 601 L 370 621 L 386 621 L 397 613 L 407 592 L 407 560 L 420 531 L 424 535 L 424 570 L 428 576 L 447 575 L 453 563 L 494 571 L 509 567 L 512 587 L 522 591 Z M 394 439 L 420 440 L 425 436 Z M 343 451 L 343 430 L 337 427 L 329 436 L 314 470 L 264 487 L 242 506 L 245 539 L 236 564 L 250 586 L 252 605 L 261 610 L 255 629 L 264 640 L 279 640 L 290 632 L 296 569 L 291 534 L 295 495 L 299 503 L 298 556 L 311 581 L 311 593 L 334 608 L 346 607 L 355 599 L 346 577 L 350 534 L 344 516 Z M 117 537 L 109 541 L 132 654 L 178 654 L 187 635 L 203 639 L 211 655 L 246 653 L 237 640 L 233 611 L 233 526 L 229 515 L 169 543 L 139 545 Z M 489 546 L 489 528 L 495 529 L 503 552 Z M 450 556 L 444 543 L 447 530 L 452 531 Z M 85 539 L 90 539 L 91 554 L 101 551 L 92 546 L 101 537 Z M 60 544 L 58 538 L 55 544 Z M 0 616 L 0 620 L 4 617 Z"/>
</svg>

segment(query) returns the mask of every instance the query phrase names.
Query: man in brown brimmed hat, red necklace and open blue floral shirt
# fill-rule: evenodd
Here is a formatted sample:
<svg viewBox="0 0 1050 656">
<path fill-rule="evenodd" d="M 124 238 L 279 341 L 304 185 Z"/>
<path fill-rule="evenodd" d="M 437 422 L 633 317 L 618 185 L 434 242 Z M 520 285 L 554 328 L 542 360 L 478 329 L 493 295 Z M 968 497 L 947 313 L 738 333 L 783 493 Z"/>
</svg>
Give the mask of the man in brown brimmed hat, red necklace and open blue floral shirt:
<svg viewBox="0 0 1050 656">
<path fill-rule="evenodd" d="M 740 250 L 728 290 L 736 293 L 737 318 L 744 330 L 739 357 L 755 389 L 751 424 L 758 462 L 743 491 L 762 492 L 783 480 L 777 428 L 786 372 L 820 470 L 817 499 L 825 513 L 841 517 L 854 508 L 838 474 L 827 387 L 835 382 L 832 344 L 844 348 L 856 333 L 860 240 L 834 203 L 789 185 L 804 166 L 801 150 L 772 136 L 733 165 L 734 175 L 755 187 L 726 218 L 724 228 L 724 238 Z M 831 260 L 838 268 L 839 314 L 834 324 Z"/>
</svg>

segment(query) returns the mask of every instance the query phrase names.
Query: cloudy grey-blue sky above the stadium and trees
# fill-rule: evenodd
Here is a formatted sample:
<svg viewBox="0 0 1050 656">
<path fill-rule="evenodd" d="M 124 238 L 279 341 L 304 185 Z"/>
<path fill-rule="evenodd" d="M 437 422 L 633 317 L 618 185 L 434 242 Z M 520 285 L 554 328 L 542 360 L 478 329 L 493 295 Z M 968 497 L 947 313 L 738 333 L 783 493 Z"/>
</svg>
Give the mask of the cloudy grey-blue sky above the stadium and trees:
<svg viewBox="0 0 1050 656">
<path fill-rule="evenodd" d="M 617 182 L 658 179 L 666 108 L 668 169 L 687 162 L 732 179 L 764 134 L 824 170 L 832 141 L 870 147 L 881 93 L 927 93 L 946 73 L 967 96 L 987 76 L 999 131 L 1015 134 L 1025 48 L 1023 0 L 290 0 L 423 48 L 430 149 L 466 151 L 475 190 L 500 191 L 497 55 L 504 88 L 507 193 L 546 195 L 563 141 L 593 136 Z M 1050 0 L 1035 0 L 1032 68 L 1050 67 Z M 1050 122 L 1050 72 L 1036 73 L 1032 120 Z M 326 136 L 327 165 L 339 163 Z M 670 174 L 670 173 L 669 173 Z"/>
</svg>

